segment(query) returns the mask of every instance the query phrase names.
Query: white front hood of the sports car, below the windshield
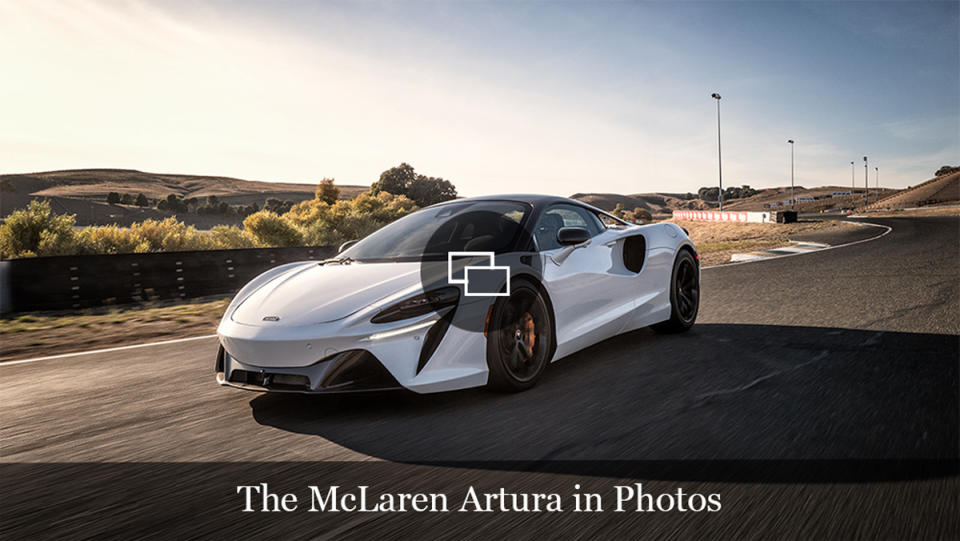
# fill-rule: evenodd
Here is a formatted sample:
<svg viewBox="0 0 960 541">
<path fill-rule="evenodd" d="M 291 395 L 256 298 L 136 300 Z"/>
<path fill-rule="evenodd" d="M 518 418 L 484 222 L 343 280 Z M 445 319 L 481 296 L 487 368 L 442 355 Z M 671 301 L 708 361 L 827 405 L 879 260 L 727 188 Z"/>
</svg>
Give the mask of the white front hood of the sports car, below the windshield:
<svg viewBox="0 0 960 541">
<path fill-rule="evenodd" d="M 284 327 L 343 319 L 416 285 L 419 270 L 416 262 L 294 267 L 257 288 L 230 318 L 244 325 Z"/>
</svg>

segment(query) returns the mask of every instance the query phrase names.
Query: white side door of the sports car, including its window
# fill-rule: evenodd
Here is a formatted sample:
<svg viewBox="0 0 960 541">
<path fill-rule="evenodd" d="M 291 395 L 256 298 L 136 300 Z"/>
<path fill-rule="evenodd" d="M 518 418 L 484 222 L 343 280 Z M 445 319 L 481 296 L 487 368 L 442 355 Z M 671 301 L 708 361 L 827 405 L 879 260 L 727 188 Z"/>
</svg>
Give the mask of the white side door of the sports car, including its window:
<svg viewBox="0 0 960 541">
<path fill-rule="evenodd" d="M 590 232 L 584 246 L 560 246 L 561 227 L 582 227 Z M 618 233 L 607 230 L 589 209 L 570 204 L 551 205 L 534 228 L 541 252 L 543 280 L 553 303 L 557 355 L 613 336 L 622 327 L 622 316 L 632 307 L 623 291 L 621 276 L 611 270 Z"/>
</svg>

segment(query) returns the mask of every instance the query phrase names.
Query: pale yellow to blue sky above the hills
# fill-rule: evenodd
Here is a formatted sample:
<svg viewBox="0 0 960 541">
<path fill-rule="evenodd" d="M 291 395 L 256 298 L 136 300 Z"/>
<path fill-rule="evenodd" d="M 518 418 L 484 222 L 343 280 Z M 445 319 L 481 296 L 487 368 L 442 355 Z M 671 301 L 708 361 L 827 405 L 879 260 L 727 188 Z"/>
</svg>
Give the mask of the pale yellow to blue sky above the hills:
<svg viewBox="0 0 960 541">
<path fill-rule="evenodd" d="M 917 184 L 960 165 L 960 3 L 0 0 L 0 173 L 696 192 L 714 92 L 724 186 L 789 185 L 788 139 L 797 185 Z"/>
</svg>

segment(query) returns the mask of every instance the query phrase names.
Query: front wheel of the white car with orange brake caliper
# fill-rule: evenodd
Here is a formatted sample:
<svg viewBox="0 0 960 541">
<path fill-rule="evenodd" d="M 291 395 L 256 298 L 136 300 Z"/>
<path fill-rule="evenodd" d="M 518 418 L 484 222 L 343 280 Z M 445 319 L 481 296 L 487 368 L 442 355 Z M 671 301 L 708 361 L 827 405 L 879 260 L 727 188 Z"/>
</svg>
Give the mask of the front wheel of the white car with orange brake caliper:
<svg viewBox="0 0 960 541">
<path fill-rule="evenodd" d="M 513 284 L 490 311 L 487 326 L 487 386 L 500 391 L 533 387 L 553 353 L 550 310 L 540 290 L 527 281 Z"/>
</svg>

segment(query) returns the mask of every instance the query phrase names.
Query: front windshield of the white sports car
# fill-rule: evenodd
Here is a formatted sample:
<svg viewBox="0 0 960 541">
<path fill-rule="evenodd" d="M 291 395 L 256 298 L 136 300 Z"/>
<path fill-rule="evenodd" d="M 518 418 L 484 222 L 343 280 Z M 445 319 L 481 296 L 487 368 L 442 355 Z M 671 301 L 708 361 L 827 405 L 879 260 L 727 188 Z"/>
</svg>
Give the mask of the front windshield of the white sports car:
<svg viewBox="0 0 960 541">
<path fill-rule="evenodd" d="M 338 258 L 356 261 L 446 259 L 447 252 L 507 251 L 529 205 L 515 201 L 463 201 L 425 208 L 388 224 Z"/>
</svg>

